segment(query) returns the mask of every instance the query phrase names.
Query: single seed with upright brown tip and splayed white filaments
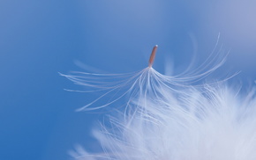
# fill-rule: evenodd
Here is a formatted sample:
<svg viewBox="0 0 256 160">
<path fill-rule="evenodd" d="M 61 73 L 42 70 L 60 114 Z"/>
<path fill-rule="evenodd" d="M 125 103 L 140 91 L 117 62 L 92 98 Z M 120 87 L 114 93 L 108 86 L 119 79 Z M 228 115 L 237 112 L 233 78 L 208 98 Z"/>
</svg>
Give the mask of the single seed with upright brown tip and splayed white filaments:
<svg viewBox="0 0 256 160">
<path fill-rule="evenodd" d="M 70 79 L 75 84 L 86 87 L 85 91 L 94 92 L 101 91 L 102 96 L 95 98 L 91 103 L 79 108 L 77 111 L 90 111 L 104 108 L 115 104 L 125 96 L 129 96 L 126 104 L 129 105 L 134 98 L 147 97 L 147 94 L 153 94 L 155 97 L 162 97 L 162 92 L 177 91 L 179 87 L 189 86 L 200 81 L 204 77 L 211 74 L 215 69 L 218 69 L 225 62 L 225 58 L 215 60 L 216 55 L 208 58 L 206 66 L 200 66 L 201 69 L 195 69 L 194 73 L 188 76 L 183 74 L 176 76 L 165 76 L 152 68 L 154 57 L 157 50 L 157 45 L 154 46 L 149 58 L 148 67 L 138 72 L 127 74 L 94 74 L 86 72 L 73 72 L 72 75 L 63 75 Z M 217 53 L 219 54 L 219 52 Z M 209 67 L 210 66 L 210 67 Z M 207 68 L 208 67 L 208 68 Z M 186 71 L 189 69 L 186 69 Z M 73 90 L 67 90 L 73 91 Z M 106 101 L 102 100 L 108 98 Z"/>
</svg>

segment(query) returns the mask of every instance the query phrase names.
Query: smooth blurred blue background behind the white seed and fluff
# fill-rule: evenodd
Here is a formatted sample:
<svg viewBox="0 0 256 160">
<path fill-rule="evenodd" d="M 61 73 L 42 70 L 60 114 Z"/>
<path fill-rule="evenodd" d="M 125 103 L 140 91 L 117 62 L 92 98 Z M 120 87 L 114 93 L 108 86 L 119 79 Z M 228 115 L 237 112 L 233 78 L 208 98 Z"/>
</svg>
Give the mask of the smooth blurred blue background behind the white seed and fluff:
<svg viewBox="0 0 256 160">
<path fill-rule="evenodd" d="M 202 62 L 221 33 L 231 49 L 222 73 L 253 84 L 255 1 L 1 0 L 0 159 L 64 160 L 74 145 L 96 149 L 91 128 L 101 115 L 75 113 L 92 98 L 64 91 L 77 86 L 58 72 L 132 72 L 147 67 L 174 73 L 198 54 Z M 251 82 L 251 83 L 250 83 Z M 254 85 L 254 84 L 253 84 Z"/>
</svg>

